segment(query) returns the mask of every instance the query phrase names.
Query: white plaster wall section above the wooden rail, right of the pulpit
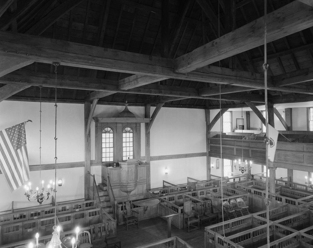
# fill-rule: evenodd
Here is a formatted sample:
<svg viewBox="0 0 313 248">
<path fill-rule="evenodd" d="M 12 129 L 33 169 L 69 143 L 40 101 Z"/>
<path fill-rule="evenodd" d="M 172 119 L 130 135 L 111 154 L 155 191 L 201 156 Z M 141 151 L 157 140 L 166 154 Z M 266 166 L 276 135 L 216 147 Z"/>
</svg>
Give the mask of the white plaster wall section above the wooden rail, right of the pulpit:
<svg viewBox="0 0 313 248">
<path fill-rule="evenodd" d="M 161 108 L 150 129 L 150 155 L 206 151 L 203 109 Z"/>
</svg>

